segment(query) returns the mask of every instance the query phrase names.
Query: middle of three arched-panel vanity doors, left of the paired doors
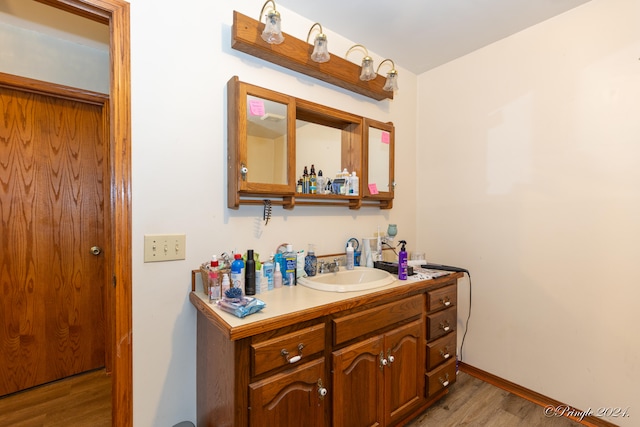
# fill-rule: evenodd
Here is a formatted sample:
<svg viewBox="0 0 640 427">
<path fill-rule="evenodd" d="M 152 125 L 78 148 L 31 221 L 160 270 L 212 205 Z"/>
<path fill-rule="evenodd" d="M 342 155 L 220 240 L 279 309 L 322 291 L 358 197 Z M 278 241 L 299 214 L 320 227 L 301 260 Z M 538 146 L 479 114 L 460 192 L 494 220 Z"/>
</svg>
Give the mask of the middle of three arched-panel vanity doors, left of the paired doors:
<svg viewBox="0 0 640 427">
<path fill-rule="evenodd" d="M 381 426 L 383 337 L 373 337 L 333 353 L 333 426 Z"/>
</svg>

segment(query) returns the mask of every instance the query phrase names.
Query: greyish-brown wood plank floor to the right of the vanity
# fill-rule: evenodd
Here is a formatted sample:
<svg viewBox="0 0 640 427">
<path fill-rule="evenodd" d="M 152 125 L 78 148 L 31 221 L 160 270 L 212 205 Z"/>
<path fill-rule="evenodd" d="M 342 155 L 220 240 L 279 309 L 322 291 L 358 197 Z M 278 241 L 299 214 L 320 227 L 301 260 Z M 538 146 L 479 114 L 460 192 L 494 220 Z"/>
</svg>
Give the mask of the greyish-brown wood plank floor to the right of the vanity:
<svg viewBox="0 0 640 427">
<path fill-rule="evenodd" d="M 544 408 L 460 372 L 450 392 L 407 427 L 569 427 L 580 424 L 563 417 L 548 418 Z"/>
</svg>

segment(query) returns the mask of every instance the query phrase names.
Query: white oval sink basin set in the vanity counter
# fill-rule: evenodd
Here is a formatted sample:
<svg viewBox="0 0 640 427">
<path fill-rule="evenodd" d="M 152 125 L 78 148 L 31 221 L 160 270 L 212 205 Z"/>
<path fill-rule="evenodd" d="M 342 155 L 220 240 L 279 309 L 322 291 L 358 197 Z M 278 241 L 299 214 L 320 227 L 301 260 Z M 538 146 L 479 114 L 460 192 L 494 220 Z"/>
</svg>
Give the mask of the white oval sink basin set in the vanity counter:
<svg viewBox="0 0 640 427">
<path fill-rule="evenodd" d="M 355 267 L 353 270 L 323 273 L 313 277 L 299 277 L 298 284 L 307 288 L 327 292 L 355 292 L 380 288 L 393 283 L 395 277 L 377 268 Z"/>
</svg>

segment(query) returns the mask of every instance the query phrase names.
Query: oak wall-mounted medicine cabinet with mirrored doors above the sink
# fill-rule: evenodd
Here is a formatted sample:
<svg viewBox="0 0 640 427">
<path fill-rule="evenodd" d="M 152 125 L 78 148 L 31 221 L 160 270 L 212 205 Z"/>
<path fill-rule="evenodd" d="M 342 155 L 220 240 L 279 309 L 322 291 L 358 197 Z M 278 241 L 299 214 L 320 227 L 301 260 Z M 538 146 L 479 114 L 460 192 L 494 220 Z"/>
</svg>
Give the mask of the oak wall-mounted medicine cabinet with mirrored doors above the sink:
<svg viewBox="0 0 640 427">
<path fill-rule="evenodd" d="M 265 200 L 285 209 L 301 205 L 391 208 L 391 123 L 284 95 L 235 76 L 227 84 L 227 102 L 229 208 L 263 204 Z M 371 142 L 376 139 L 383 141 L 383 147 Z M 373 156 L 371 160 L 367 153 Z M 360 178 L 358 191 L 298 192 L 296 184 L 303 168 L 310 172 L 311 165 L 316 174 L 322 170 L 325 180 L 333 180 L 344 169 L 355 171 Z M 379 193 L 369 191 L 370 183 L 377 185 Z"/>
</svg>

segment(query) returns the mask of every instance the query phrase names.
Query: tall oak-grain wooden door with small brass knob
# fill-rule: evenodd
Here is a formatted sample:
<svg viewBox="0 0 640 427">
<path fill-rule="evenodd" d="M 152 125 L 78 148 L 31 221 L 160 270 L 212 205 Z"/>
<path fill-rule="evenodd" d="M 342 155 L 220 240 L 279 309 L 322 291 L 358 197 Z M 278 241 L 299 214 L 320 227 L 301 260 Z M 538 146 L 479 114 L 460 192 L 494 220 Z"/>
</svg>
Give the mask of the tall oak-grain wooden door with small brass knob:
<svg viewBox="0 0 640 427">
<path fill-rule="evenodd" d="M 0 395 L 105 364 L 104 108 L 0 88 Z"/>
</svg>

